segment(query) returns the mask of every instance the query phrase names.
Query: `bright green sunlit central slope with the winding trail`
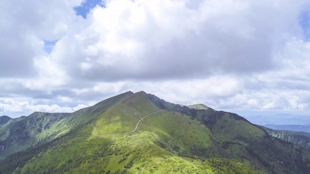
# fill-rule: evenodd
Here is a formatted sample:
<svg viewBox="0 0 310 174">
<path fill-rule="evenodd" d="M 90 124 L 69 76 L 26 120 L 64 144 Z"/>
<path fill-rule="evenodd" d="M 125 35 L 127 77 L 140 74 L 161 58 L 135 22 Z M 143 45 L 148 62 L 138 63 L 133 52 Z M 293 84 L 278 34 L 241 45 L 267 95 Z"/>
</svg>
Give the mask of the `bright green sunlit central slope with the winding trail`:
<svg viewBox="0 0 310 174">
<path fill-rule="evenodd" d="M 204 155 L 219 156 L 210 139 L 212 132 L 180 113 L 155 113 L 143 119 L 137 131 L 128 132 L 141 117 L 158 110 L 143 92 L 136 93 L 55 142 L 15 172 L 261 173 L 239 160 L 204 160 Z M 201 154 L 202 149 L 207 153 Z"/>
</svg>

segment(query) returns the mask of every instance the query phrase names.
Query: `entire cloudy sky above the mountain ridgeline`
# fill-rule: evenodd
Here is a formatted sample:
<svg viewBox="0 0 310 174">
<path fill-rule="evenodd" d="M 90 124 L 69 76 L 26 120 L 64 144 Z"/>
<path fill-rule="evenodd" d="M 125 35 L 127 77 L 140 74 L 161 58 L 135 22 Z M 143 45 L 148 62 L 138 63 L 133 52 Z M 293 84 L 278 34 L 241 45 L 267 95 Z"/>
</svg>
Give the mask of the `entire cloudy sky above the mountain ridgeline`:
<svg viewBox="0 0 310 174">
<path fill-rule="evenodd" d="M 0 116 L 141 90 L 310 115 L 309 0 L 1 0 Z"/>
</svg>

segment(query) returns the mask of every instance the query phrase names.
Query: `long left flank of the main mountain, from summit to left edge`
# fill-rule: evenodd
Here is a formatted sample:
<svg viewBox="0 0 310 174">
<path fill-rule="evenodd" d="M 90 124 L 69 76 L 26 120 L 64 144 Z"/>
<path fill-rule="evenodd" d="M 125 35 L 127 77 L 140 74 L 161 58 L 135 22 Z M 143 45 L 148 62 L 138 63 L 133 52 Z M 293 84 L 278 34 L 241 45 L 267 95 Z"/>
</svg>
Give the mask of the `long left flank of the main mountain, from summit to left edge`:
<svg viewBox="0 0 310 174">
<path fill-rule="evenodd" d="M 11 120 L 0 127 L 0 146 L 4 146 L 4 150 L 0 151 L 0 158 L 5 158 L 38 143 L 49 142 L 72 129 L 86 125 L 110 106 L 127 99 L 132 94 L 131 91 L 125 92 L 70 114 L 35 112 L 30 116 Z"/>
</svg>

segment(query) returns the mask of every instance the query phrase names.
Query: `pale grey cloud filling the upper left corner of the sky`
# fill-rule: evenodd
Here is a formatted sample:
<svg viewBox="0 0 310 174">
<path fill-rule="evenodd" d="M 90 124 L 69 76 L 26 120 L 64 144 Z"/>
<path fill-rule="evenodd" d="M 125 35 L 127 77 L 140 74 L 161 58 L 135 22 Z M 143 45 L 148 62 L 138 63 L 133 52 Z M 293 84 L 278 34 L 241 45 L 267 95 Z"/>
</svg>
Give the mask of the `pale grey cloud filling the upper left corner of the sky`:
<svg viewBox="0 0 310 174">
<path fill-rule="evenodd" d="M 1 1 L 0 76 L 34 76 L 33 58 L 44 54 L 43 40 L 60 39 L 66 34 L 75 17 L 71 8 L 76 4 L 77 0 Z"/>
</svg>

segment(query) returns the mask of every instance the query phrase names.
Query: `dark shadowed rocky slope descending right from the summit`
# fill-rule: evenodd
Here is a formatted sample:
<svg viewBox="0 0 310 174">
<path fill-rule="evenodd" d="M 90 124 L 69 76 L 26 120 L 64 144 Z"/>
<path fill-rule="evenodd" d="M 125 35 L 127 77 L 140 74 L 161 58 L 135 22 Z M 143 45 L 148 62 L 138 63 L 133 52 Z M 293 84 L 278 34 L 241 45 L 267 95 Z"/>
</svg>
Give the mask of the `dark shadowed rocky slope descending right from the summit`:
<svg viewBox="0 0 310 174">
<path fill-rule="evenodd" d="M 160 108 L 181 112 L 203 122 L 214 133 L 210 139 L 221 157 L 243 160 L 266 173 L 310 173 L 309 151 L 272 138 L 241 116 L 211 108 L 190 109 L 165 102 L 154 95 L 149 97 Z"/>
</svg>

